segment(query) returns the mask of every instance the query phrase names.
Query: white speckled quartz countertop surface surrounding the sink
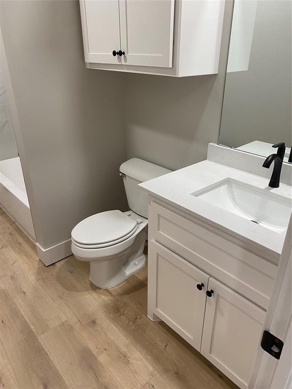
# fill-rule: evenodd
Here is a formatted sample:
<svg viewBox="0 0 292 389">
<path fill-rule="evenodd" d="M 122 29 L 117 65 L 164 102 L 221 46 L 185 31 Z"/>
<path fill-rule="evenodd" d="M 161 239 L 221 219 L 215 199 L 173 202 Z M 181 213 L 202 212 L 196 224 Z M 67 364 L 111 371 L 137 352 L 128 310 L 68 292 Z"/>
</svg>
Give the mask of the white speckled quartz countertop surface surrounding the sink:
<svg viewBox="0 0 292 389">
<path fill-rule="evenodd" d="M 279 188 L 270 188 L 268 186 L 269 179 L 267 178 L 208 160 L 143 182 L 140 186 L 151 195 L 170 203 L 182 211 L 227 228 L 237 238 L 241 237 L 244 241 L 248 240 L 260 245 L 278 256 L 282 251 L 285 231 L 279 233 L 252 223 L 241 216 L 212 205 L 191 194 L 227 178 L 269 190 L 271 193 L 285 197 L 291 202 L 292 186 L 280 184 Z"/>
</svg>

